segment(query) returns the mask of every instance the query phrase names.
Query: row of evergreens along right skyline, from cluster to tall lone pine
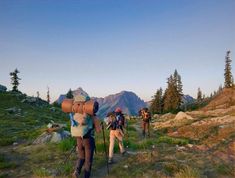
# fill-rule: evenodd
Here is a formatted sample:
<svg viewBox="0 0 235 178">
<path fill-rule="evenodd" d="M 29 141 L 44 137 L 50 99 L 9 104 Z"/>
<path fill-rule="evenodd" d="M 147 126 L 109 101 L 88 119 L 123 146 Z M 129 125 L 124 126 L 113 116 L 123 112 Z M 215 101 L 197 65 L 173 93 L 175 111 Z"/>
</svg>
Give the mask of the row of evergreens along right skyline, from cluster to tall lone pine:
<svg viewBox="0 0 235 178">
<path fill-rule="evenodd" d="M 224 88 L 234 87 L 230 53 L 230 51 L 227 51 L 225 56 Z M 196 101 L 191 106 L 184 106 L 182 102 L 182 97 L 184 96 L 183 84 L 181 81 L 181 76 L 178 71 L 175 70 L 175 72 L 167 78 L 167 87 L 165 91 L 163 91 L 161 87 L 157 89 L 150 104 L 150 111 L 152 113 L 162 114 L 167 112 L 174 113 L 180 110 L 187 110 L 189 108 L 196 109 L 200 106 L 206 105 L 222 90 L 223 87 L 220 85 L 217 91 L 214 91 L 214 93 L 211 93 L 209 97 L 206 97 L 199 87 L 197 90 Z"/>
</svg>

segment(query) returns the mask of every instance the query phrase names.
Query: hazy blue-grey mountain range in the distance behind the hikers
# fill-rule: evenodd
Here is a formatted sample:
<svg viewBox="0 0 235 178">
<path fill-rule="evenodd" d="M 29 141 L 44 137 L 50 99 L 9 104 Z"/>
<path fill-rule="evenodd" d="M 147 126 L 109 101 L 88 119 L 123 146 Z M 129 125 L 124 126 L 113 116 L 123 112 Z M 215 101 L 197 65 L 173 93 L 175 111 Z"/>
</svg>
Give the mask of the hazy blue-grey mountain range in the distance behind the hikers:
<svg viewBox="0 0 235 178">
<path fill-rule="evenodd" d="M 86 92 L 82 88 L 78 88 L 77 90 L 72 91 L 72 93 L 76 96 L 79 93 Z M 65 98 L 66 95 L 62 94 L 56 102 L 61 104 Z M 137 115 L 141 108 L 147 107 L 147 104 L 143 100 L 130 91 L 122 91 L 104 98 L 92 97 L 92 99 L 99 103 L 99 111 L 97 115 L 101 118 L 105 117 L 108 112 L 114 111 L 117 107 L 120 107 L 123 113 L 128 115 Z"/>
</svg>

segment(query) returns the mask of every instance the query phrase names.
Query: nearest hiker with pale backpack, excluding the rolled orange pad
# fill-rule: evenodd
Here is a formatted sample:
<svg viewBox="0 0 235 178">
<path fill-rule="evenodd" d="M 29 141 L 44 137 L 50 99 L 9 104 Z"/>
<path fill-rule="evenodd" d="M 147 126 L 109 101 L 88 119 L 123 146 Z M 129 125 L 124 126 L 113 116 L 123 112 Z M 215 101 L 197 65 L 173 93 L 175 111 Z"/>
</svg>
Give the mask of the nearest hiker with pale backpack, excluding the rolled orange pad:
<svg viewBox="0 0 235 178">
<path fill-rule="evenodd" d="M 78 103 L 77 108 L 73 110 L 78 110 L 79 107 L 84 109 L 85 102 L 89 102 L 90 97 L 86 94 L 80 94 L 74 98 L 74 106 Z M 94 132 L 100 132 L 99 120 L 95 113 L 88 114 L 85 111 L 75 112 L 74 115 L 71 114 L 71 119 L 73 120 L 73 125 L 71 125 L 71 134 L 76 138 L 77 141 L 77 152 L 78 160 L 76 163 L 75 171 L 73 173 L 74 178 L 78 178 L 81 174 L 82 167 L 84 167 L 84 177 L 89 178 L 91 174 L 91 167 L 93 162 L 93 155 L 95 150 L 95 137 Z"/>
</svg>

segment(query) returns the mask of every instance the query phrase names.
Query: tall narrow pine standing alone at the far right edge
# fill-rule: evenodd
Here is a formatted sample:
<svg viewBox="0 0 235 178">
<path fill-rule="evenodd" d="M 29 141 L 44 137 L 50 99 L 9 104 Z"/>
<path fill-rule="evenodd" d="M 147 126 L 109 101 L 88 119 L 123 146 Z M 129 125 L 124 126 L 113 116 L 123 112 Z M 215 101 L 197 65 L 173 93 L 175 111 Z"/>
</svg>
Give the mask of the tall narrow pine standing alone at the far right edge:
<svg viewBox="0 0 235 178">
<path fill-rule="evenodd" d="M 231 62 L 232 60 L 230 59 L 230 51 L 227 51 L 226 57 L 225 57 L 225 69 L 224 69 L 224 86 L 225 88 L 230 88 L 233 86 L 233 76 L 232 76 L 232 67 L 231 67 Z"/>
</svg>

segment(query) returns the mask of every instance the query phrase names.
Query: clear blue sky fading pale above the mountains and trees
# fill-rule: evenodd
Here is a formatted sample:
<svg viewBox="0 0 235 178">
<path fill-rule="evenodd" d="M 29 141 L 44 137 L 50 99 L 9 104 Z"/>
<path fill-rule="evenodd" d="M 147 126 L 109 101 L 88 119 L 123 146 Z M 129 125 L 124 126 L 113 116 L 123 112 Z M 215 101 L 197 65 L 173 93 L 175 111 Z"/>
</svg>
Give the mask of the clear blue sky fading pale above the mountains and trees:
<svg viewBox="0 0 235 178">
<path fill-rule="evenodd" d="M 81 86 L 147 101 L 177 69 L 185 94 L 209 95 L 227 50 L 233 60 L 234 17 L 234 0 L 1 0 L 0 84 L 10 89 L 17 67 L 29 95 L 45 98 L 49 86 L 54 100 Z"/>
</svg>

